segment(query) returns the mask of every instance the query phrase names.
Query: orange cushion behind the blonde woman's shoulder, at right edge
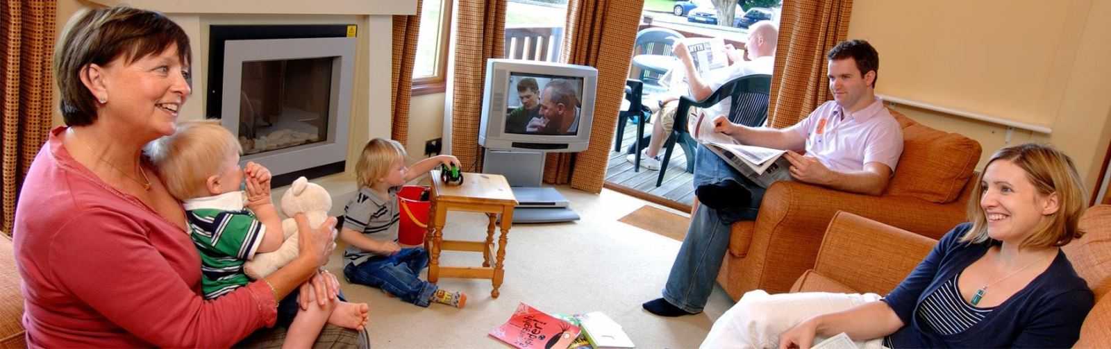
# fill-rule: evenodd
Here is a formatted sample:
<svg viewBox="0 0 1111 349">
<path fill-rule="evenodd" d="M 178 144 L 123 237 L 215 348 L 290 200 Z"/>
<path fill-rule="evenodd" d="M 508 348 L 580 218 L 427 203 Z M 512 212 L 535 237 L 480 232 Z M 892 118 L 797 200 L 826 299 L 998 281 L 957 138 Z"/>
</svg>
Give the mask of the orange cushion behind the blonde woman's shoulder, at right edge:
<svg viewBox="0 0 1111 349">
<path fill-rule="evenodd" d="M 1062 249 L 1099 301 L 1111 290 L 1111 205 L 1089 208 L 1080 218 L 1080 230 L 1084 236 Z"/>
</svg>

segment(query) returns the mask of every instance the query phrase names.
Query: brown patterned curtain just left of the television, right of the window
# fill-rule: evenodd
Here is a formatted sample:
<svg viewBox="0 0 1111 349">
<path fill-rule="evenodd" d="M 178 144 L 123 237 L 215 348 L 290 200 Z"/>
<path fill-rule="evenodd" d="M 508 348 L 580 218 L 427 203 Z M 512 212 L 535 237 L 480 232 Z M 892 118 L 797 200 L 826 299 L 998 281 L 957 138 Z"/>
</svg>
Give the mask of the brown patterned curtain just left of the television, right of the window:
<svg viewBox="0 0 1111 349">
<path fill-rule="evenodd" d="M 506 0 L 457 0 L 451 77 L 451 153 L 464 171 L 480 172 L 479 121 L 486 61 L 506 54 Z"/>
</svg>

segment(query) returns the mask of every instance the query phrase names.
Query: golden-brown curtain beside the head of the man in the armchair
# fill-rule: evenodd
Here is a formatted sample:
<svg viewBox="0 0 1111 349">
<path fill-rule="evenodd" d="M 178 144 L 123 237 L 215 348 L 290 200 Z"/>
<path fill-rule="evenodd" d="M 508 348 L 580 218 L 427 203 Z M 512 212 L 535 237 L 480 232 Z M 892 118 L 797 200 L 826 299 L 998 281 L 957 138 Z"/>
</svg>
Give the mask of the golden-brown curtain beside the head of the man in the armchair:
<svg viewBox="0 0 1111 349">
<path fill-rule="evenodd" d="M 830 99 L 825 52 L 848 36 L 850 12 L 852 0 L 783 1 L 769 126 L 792 126 Z"/>
</svg>

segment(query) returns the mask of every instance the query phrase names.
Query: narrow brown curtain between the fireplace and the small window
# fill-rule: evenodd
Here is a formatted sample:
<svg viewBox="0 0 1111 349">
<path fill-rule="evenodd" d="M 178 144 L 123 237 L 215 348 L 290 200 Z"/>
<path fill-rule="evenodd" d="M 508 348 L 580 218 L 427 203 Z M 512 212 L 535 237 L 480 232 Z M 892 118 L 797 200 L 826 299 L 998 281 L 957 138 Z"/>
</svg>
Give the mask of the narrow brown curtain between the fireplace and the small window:
<svg viewBox="0 0 1111 349">
<path fill-rule="evenodd" d="M 390 110 L 393 112 L 390 138 L 406 144 L 409 139 L 409 100 L 412 99 L 413 62 L 417 61 L 417 38 L 420 33 L 422 0 L 417 0 L 417 14 L 393 17 L 393 64 L 390 69 Z"/>
</svg>

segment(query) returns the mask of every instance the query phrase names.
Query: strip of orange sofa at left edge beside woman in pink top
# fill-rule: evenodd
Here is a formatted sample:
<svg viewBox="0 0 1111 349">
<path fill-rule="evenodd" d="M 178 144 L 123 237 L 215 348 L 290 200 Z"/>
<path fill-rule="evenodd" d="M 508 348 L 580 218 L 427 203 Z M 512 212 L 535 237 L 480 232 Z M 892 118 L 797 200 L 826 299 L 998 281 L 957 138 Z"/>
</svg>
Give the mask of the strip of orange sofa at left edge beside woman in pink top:
<svg viewBox="0 0 1111 349">
<path fill-rule="evenodd" d="M 0 348 L 27 348 L 23 336 L 23 295 L 11 238 L 0 231 Z"/>
</svg>

